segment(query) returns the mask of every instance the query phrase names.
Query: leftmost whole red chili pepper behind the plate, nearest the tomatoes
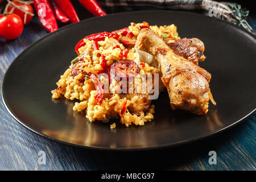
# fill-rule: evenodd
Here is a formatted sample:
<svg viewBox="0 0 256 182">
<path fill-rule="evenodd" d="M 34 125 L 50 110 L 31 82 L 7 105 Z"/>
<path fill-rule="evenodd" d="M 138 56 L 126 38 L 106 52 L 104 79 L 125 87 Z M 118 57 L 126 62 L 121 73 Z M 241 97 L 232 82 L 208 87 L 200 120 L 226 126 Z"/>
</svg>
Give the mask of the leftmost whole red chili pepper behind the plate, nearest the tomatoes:
<svg viewBox="0 0 256 182">
<path fill-rule="evenodd" d="M 48 0 L 33 0 L 38 18 L 47 31 L 58 30 L 57 21 Z"/>
</svg>

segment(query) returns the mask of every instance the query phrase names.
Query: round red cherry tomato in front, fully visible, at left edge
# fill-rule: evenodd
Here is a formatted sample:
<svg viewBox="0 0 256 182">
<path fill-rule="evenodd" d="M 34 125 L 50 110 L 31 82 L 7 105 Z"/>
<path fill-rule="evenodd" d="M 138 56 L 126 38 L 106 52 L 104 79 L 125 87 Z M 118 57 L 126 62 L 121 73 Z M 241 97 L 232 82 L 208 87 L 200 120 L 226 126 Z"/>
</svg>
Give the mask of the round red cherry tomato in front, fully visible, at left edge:
<svg viewBox="0 0 256 182">
<path fill-rule="evenodd" d="M 23 31 L 22 19 L 16 14 L 0 16 L 0 36 L 5 39 L 15 39 Z"/>
</svg>

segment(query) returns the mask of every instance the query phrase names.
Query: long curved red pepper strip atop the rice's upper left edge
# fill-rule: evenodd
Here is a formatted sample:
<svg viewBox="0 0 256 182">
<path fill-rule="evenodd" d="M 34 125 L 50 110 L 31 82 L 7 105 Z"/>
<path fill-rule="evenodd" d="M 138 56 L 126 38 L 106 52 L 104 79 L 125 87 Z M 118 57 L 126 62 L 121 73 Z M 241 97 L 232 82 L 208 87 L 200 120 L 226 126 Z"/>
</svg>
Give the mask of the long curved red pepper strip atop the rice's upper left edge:
<svg viewBox="0 0 256 182">
<path fill-rule="evenodd" d="M 89 35 L 89 36 L 86 36 L 84 39 L 88 39 L 88 40 L 94 40 L 94 41 L 102 41 L 102 40 L 105 40 L 106 36 L 108 38 L 114 38 L 114 39 L 117 39 L 119 38 L 119 35 L 118 34 L 112 34 L 112 33 L 108 33 L 108 32 L 102 32 L 102 33 L 98 33 L 98 34 L 92 34 L 92 35 Z M 79 51 L 78 49 L 82 46 L 85 46 L 85 42 L 84 42 L 84 39 L 81 39 L 79 41 L 79 43 L 76 44 L 76 48 L 75 48 L 75 51 L 77 53 L 77 55 L 79 55 Z"/>
</svg>

